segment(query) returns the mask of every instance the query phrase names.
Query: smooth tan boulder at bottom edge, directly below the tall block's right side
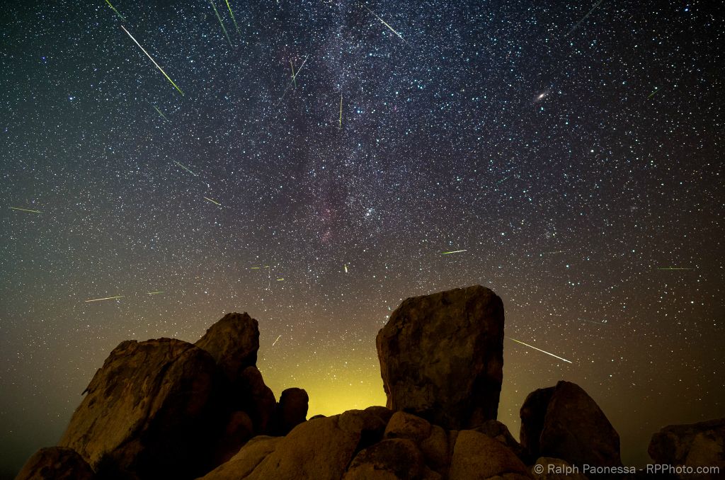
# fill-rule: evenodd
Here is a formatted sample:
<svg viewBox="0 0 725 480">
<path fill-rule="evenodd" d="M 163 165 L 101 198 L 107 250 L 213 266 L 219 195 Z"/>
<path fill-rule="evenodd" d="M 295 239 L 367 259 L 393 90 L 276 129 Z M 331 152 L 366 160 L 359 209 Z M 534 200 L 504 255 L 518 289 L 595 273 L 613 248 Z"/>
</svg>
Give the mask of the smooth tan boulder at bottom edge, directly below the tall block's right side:
<svg viewBox="0 0 725 480">
<path fill-rule="evenodd" d="M 503 477 L 529 479 L 529 469 L 501 442 L 473 430 L 458 432 L 448 478 L 485 480 Z"/>
</svg>

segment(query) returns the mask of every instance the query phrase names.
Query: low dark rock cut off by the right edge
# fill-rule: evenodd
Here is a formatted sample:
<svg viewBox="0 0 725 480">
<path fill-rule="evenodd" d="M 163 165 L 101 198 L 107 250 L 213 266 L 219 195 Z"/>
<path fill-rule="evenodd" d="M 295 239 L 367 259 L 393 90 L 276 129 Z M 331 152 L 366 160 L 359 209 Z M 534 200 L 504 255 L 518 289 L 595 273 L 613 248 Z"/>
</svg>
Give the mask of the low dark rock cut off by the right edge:
<svg viewBox="0 0 725 480">
<path fill-rule="evenodd" d="M 666 426 L 652 436 L 648 449 L 655 463 L 692 467 L 717 466 L 725 472 L 725 418 Z M 716 478 L 705 474 L 687 474 L 681 478 Z"/>
</svg>

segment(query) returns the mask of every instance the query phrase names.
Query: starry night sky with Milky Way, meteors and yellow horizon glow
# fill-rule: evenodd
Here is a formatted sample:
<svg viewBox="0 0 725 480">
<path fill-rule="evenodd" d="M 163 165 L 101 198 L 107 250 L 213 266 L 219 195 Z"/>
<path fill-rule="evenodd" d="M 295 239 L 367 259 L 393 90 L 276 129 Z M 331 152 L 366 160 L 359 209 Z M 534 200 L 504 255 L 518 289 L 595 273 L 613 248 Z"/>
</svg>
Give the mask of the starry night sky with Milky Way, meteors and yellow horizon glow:
<svg viewBox="0 0 725 480">
<path fill-rule="evenodd" d="M 571 361 L 505 340 L 516 436 L 560 379 L 625 464 L 721 417 L 714 8 L 5 5 L 1 474 L 58 441 L 124 339 L 195 342 L 247 311 L 267 384 L 334 414 L 384 404 L 375 336 L 402 299 L 471 284 L 502 297 L 506 336 Z"/>
</svg>

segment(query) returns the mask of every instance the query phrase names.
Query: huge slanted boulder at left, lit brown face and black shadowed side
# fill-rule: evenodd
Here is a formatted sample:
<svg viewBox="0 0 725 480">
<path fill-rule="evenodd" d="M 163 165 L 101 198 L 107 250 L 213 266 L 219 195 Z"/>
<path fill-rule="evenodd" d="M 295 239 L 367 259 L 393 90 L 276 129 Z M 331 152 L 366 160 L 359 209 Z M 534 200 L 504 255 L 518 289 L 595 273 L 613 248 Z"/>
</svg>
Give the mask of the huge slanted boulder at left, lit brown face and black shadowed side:
<svg viewBox="0 0 725 480">
<path fill-rule="evenodd" d="M 122 342 L 88 384 L 60 446 L 93 468 L 103 460 L 107 473 L 194 478 L 209 467 L 218 383 L 214 359 L 192 344 Z"/>
</svg>

